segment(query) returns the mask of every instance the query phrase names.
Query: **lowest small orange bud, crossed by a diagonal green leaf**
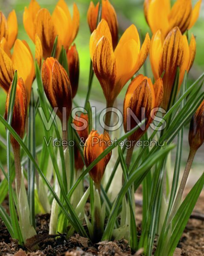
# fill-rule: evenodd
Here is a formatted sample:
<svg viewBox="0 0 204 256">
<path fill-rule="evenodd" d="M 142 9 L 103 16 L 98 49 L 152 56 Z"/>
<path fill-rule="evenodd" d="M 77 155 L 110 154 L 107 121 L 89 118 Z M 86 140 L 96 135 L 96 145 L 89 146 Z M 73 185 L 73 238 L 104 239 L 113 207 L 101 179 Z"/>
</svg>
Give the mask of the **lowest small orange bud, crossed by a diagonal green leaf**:
<svg viewBox="0 0 204 256">
<path fill-rule="evenodd" d="M 86 140 L 84 146 L 84 158 L 86 166 L 89 166 L 103 151 L 108 148 L 107 143 L 110 141 L 109 134 L 105 132 L 99 135 L 97 131 L 92 131 Z M 111 158 L 111 152 L 107 154 L 101 161 L 99 161 L 89 172 L 95 184 L 99 185 L 101 179 Z"/>
</svg>

